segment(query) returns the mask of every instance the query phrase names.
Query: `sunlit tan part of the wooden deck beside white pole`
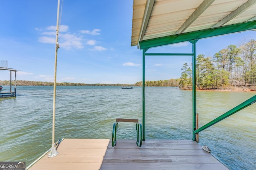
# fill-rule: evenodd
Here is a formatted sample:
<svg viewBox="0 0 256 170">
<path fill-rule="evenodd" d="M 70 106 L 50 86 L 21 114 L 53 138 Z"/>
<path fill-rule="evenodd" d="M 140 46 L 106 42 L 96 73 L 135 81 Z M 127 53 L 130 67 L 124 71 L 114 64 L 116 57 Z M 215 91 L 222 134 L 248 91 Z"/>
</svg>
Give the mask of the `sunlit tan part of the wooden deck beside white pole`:
<svg viewBox="0 0 256 170">
<path fill-rule="evenodd" d="M 57 156 L 46 154 L 29 170 L 98 170 L 109 143 L 109 139 L 64 139 Z"/>
</svg>

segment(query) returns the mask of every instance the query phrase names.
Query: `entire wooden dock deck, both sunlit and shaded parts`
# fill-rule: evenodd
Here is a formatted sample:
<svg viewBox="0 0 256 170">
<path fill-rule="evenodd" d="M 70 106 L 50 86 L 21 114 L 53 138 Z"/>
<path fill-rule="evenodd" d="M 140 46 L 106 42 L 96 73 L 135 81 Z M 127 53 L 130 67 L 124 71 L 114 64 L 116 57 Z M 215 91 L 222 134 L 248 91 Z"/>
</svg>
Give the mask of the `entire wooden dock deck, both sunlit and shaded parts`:
<svg viewBox="0 0 256 170">
<path fill-rule="evenodd" d="M 228 170 L 192 140 L 64 139 L 58 156 L 43 156 L 29 170 Z"/>
</svg>

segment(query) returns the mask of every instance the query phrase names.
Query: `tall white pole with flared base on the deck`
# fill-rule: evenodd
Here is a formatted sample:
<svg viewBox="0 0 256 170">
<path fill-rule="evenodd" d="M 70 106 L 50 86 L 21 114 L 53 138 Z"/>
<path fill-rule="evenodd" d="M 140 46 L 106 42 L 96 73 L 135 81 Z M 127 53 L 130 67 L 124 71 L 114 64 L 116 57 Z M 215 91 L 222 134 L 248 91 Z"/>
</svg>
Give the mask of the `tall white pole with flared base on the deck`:
<svg viewBox="0 0 256 170">
<path fill-rule="evenodd" d="M 52 149 L 48 157 L 52 158 L 58 155 L 54 146 L 54 131 L 55 131 L 55 102 L 56 102 L 56 73 L 57 73 L 57 53 L 58 53 L 58 33 L 59 33 L 59 13 L 60 13 L 60 0 L 58 0 L 57 9 L 57 23 L 56 23 L 56 47 L 55 47 L 55 68 L 54 68 L 54 86 L 53 86 L 53 109 L 52 109 Z"/>
</svg>

